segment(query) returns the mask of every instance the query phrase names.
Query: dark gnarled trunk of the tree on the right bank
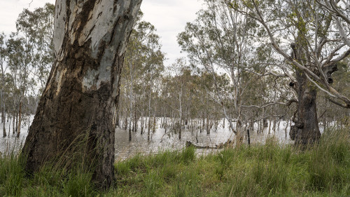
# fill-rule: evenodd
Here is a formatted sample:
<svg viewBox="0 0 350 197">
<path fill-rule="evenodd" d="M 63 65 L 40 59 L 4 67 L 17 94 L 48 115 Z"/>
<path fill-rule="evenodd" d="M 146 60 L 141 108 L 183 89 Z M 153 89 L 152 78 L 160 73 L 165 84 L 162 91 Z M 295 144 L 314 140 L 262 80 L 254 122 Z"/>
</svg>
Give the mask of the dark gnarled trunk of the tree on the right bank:
<svg viewBox="0 0 350 197">
<path fill-rule="evenodd" d="M 299 70 L 296 79 L 298 104 L 295 144 L 313 144 L 321 137 L 316 110 L 316 87 Z"/>
</svg>

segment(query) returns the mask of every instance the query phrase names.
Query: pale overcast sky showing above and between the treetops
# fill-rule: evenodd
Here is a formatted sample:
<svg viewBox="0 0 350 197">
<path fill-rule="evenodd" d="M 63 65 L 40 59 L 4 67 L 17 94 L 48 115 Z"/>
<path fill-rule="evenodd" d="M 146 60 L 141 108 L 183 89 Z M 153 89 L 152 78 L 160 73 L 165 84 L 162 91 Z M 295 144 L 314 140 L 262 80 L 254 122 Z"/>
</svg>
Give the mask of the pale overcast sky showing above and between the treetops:
<svg viewBox="0 0 350 197">
<path fill-rule="evenodd" d="M 23 8 L 34 10 L 46 2 L 55 4 L 55 0 L 0 0 L 0 32 L 15 32 L 15 20 Z M 176 35 L 183 31 L 186 22 L 195 20 L 195 13 L 202 8 L 200 0 L 144 0 L 141 10 L 144 20 L 157 28 L 161 37 L 162 51 L 167 53 L 166 64 L 172 64 L 177 57 L 186 56 L 180 53 L 181 48 Z"/>
</svg>

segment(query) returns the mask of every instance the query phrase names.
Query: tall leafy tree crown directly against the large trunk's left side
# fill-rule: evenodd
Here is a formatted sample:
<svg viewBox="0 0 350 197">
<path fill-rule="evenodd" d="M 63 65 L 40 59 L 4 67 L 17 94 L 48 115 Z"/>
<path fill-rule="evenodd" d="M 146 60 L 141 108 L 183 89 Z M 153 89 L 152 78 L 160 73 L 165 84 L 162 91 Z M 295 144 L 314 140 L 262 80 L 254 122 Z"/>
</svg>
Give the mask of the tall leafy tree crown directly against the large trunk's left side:
<svg viewBox="0 0 350 197">
<path fill-rule="evenodd" d="M 16 21 L 17 31 L 26 40 L 26 46 L 31 47 L 30 75 L 35 88 L 31 93 L 38 97 L 45 87 L 52 62 L 55 60 L 53 46 L 53 22 L 55 5 L 45 4 L 43 8 L 34 11 L 24 9 Z"/>
</svg>

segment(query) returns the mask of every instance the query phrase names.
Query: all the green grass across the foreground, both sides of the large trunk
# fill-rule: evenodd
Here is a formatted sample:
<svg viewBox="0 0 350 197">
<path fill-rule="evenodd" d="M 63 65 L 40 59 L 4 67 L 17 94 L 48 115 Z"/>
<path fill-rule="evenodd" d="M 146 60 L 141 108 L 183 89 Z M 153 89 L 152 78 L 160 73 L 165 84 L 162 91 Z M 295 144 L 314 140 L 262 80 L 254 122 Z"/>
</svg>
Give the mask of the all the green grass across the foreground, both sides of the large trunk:
<svg viewBox="0 0 350 197">
<path fill-rule="evenodd" d="M 140 154 L 115 165 L 116 183 L 96 191 L 92 174 L 45 167 L 26 177 L 23 162 L 0 159 L 0 196 L 350 196 L 350 130 L 328 132 L 314 147 L 195 149 Z"/>
</svg>

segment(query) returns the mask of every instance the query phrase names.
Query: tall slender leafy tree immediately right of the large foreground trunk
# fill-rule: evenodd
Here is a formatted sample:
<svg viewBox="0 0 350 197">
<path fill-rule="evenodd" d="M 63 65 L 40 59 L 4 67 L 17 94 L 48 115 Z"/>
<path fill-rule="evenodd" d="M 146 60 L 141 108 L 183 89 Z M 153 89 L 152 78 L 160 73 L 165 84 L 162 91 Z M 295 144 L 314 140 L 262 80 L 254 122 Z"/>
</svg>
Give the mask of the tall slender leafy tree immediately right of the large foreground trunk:
<svg viewBox="0 0 350 197">
<path fill-rule="evenodd" d="M 148 64 L 155 61 L 152 64 L 162 65 L 162 61 L 165 57 L 160 51 L 160 37 L 156 34 L 155 27 L 150 22 L 141 21 L 142 16 L 143 13 L 140 12 L 138 20 L 134 24 L 132 34 L 130 35 L 127 50 L 125 52 L 125 64 L 127 64 L 128 67 L 123 71 L 123 81 L 128 83 L 128 86 L 125 87 L 129 89 L 129 140 L 131 140 L 132 137 L 131 130 L 136 130 L 137 128 L 137 114 L 141 114 L 141 118 L 144 116 L 144 107 L 141 105 L 145 102 L 145 81 L 148 80 L 146 79 L 147 74 L 145 74 L 145 72 L 153 69 L 153 66 Z M 150 83 L 153 83 L 156 79 L 150 80 Z M 137 95 L 135 95 L 134 90 L 137 91 Z M 136 100 L 139 100 L 137 103 L 138 106 L 136 106 Z M 151 110 L 150 107 L 148 107 L 148 109 Z M 150 113 L 148 113 L 148 115 L 150 116 Z"/>
</svg>

